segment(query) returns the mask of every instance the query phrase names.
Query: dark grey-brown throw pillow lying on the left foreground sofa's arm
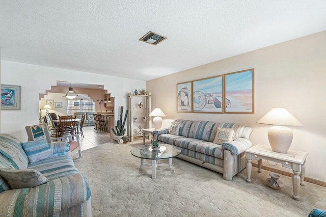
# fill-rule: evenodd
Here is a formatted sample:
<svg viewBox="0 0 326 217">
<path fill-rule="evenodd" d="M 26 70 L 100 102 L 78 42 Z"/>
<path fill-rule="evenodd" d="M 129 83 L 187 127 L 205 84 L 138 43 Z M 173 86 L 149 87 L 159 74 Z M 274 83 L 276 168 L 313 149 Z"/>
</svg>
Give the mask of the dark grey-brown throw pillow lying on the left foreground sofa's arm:
<svg viewBox="0 0 326 217">
<path fill-rule="evenodd" d="M 12 189 L 35 187 L 49 181 L 42 173 L 33 169 L 0 168 L 0 175 Z"/>
</svg>

